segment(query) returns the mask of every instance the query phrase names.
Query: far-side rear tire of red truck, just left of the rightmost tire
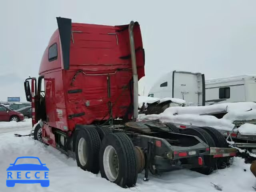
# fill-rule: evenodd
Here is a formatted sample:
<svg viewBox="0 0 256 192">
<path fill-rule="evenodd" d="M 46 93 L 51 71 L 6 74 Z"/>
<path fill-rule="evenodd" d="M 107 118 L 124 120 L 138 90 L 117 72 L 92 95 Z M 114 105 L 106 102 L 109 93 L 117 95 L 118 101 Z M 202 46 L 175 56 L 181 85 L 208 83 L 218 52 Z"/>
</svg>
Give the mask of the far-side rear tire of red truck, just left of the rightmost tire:
<svg viewBox="0 0 256 192">
<path fill-rule="evenodd" d="M 182 134 L 198 136 L 201 140 L 208 144 L 208 146 L 216 147 L 214 140 L 208 134 L 208 132 L 200 128 L 186 128 L 182 130 Z M 216 159 L 213 158 L 212 156 L 204 156 L 204 164 L 205 166 L 193 168 L 191 170 L 194 170 L 205 175 L 209 175 L 215 170 Z"/>
</svg>

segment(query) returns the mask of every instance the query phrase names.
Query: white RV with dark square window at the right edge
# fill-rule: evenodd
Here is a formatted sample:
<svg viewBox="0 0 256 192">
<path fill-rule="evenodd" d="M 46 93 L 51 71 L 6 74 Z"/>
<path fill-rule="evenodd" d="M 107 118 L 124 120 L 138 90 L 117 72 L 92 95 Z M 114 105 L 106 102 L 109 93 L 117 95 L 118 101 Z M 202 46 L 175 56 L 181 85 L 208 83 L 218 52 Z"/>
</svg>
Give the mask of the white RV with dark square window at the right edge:
<svg viewBox="0 0 256 192">
<path fill-rule="evenodd" d="M 205 81 L 206 105 L 226 102 L 256 102 L 256 75 Z"/>
</svg>

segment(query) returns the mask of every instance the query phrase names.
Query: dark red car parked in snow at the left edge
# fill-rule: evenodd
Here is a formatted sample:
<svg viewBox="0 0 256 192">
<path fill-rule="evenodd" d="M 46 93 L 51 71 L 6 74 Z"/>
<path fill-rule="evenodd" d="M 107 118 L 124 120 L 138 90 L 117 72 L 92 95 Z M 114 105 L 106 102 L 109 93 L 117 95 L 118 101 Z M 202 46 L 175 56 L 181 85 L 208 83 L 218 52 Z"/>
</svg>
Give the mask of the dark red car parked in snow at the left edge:
<svg viewBox="0 0 256 192">
<path fill-rule="evenodd" d="M 0 104 L 0 121 L 22 121 L 24 115 L 20 112 L 13 111 Z"/>
</svg>

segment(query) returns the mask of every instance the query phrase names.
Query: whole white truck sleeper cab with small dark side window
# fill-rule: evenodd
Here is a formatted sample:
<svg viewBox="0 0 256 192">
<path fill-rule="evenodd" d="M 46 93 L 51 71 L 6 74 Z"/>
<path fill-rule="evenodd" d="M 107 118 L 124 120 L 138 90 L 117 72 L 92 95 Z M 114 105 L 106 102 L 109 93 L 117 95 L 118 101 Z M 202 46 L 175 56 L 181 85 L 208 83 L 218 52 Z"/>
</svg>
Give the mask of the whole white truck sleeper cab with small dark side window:
<svg viewBox="0 0 256 192">
<path fill-rule="evenodd" d="M 204 74 L 172 71 L 162 76 L 150 89 L 149 97 L 179 98 L 187 106 L 205 105 Z"/>
</svg>

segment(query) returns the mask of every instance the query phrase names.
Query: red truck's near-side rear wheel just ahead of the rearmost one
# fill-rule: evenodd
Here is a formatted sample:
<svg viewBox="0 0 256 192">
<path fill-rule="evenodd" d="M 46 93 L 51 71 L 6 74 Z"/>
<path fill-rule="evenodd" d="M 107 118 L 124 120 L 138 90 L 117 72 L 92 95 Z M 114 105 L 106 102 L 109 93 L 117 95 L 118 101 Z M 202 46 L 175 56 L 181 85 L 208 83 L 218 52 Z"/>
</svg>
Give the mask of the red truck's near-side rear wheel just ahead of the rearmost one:
<svg viewBox="0 0 256 192">
<path fill-rule="evenodd" d="M 94 174 L 99 172 L 100 136 L 95 128 L 87 127 L 77 132 L 76 163 L 81 169 Z"/>
</svg>

